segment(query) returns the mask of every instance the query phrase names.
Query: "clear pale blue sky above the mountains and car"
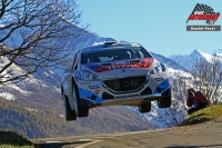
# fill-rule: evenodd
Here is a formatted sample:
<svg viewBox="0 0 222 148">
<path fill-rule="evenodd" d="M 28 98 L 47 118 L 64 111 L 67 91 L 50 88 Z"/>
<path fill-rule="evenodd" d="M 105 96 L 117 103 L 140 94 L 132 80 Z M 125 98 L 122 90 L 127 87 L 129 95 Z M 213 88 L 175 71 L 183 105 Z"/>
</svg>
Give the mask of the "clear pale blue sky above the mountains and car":
<svg viewBox="0 0 222 148">
<path fill-rule="evenodd" d="M 141 43 L 147 50 L 169 57 L 194 49 L 213 53 L 222 49 L 222 31 L 186 31 L 186 19 L 196 3 L 222 14 L 222 0 L 77 0 L 83 10 L 81 23 L 100 37 Z M 222 26 L 222 16 L 214 23 Z"/>
</svg>

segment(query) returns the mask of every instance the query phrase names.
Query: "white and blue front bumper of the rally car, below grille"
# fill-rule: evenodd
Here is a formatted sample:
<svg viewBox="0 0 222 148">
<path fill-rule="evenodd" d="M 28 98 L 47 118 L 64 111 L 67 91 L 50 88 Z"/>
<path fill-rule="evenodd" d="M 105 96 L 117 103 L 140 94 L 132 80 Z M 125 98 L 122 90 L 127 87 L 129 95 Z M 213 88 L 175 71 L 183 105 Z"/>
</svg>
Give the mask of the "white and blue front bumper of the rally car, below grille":
<svg viewBox="0 0 222 148">
<path fill-rule="evenodd" d="M 132 78 L 133 79 L 133 78 Z M 124 83 L 123 83 L 124 85 Z M 169 78 L 165 73 L 145 76 L 144 82 L 134 90 L 117 91 L 108 87 L 104 80 L 78 80 L 79 97 L 82 106 L 133 105 L 143 100 L 158 100 L 170 96 Z"/>
</svg>

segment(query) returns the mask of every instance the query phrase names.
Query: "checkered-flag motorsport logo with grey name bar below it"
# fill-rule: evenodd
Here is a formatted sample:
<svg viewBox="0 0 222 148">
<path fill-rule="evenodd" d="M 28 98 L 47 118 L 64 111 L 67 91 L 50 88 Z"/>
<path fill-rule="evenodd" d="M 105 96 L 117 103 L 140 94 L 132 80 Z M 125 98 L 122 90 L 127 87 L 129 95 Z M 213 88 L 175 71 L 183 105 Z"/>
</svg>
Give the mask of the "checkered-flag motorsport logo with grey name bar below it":
<svg viewBox="0 0 222 148">
<path fill-rule="evenodd" d="M 186 26 L 186 31 L 221 31 L 221 26 L 212 26 L 220 18 L 220 12 L 214 12 L 213 8 L 206 4 L 196 3 L 186 23 L 190 21 L 203 21 L 208 26 Z M 209 26 L 210 24 L 210 26 Z"/>
</svg>

